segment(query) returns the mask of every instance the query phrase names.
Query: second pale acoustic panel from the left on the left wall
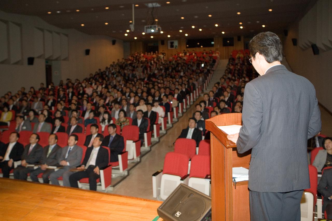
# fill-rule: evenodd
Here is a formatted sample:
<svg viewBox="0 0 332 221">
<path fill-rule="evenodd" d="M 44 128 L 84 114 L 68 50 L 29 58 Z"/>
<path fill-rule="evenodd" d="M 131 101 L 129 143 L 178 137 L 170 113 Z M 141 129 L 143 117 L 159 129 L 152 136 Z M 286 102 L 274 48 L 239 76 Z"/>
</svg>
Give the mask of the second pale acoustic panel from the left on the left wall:
<svg viewBox="0 0 332 221">
<path fill-rule="evenodd" d="M 22 60 L 21 27 L 12 22 L 9 25 L 9 58 L 15 64 Z"/>
</svg>

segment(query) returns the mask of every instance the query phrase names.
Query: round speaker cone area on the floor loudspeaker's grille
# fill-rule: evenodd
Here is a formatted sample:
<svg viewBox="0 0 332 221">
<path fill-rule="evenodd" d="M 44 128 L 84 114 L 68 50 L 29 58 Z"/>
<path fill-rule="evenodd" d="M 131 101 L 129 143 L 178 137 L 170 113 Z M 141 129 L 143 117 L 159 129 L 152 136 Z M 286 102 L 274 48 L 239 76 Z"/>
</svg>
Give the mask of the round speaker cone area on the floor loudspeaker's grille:
<svg viewBox="0 0 332 221">
<path fill-rule="evenodd" d="M 179 211 L 182 213 L 179 216 L 179 220 L 181 221 L 192 221 L 199 219 L 203 215 L 206 208 L 205 201 L 199 197 L 189 197 L 181 204 L 182 205 L 179 208 Z"/>
</svg>

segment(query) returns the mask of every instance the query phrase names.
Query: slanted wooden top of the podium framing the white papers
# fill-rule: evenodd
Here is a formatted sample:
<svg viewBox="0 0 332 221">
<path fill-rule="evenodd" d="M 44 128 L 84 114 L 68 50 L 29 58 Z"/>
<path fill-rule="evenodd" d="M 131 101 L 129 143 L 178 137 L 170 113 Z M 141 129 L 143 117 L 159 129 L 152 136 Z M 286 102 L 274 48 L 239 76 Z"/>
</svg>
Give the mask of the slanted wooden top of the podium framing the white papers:
<svg viewBox="0 0 332 221">
<path fill-rule="evenodd" d="M 236 143 L 227 139 L 227 134 L 218 126 L 242 125 L 242 113 L 224 113 L 205 120 L 205 128 L 209 130 L 226 148 L 236 147 Z"/>
</svg>

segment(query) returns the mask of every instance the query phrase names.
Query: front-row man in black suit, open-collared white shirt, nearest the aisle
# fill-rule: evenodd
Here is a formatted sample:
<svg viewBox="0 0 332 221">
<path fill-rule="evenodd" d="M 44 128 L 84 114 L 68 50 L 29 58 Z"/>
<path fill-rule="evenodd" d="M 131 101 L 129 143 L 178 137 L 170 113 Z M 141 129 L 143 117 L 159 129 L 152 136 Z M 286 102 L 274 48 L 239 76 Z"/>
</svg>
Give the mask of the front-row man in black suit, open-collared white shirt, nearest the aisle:
<svg viewBox="0 0 332 221">
<path fill-rule="evenodd" d="M 69 176 L 69 182 L 71 187 L 78 188 L 77 181 L 82 178 L 89 178 L 90 190 L 97 190 L 97 179 L 100 178 L 100 170 L 107 167 L 109 163 L 108 150 L 101 147 L 104 137 L 98 134 L 91 147 L 85 152 L 83 163 L 77 167 L 78 170 Z"/>
</svg>

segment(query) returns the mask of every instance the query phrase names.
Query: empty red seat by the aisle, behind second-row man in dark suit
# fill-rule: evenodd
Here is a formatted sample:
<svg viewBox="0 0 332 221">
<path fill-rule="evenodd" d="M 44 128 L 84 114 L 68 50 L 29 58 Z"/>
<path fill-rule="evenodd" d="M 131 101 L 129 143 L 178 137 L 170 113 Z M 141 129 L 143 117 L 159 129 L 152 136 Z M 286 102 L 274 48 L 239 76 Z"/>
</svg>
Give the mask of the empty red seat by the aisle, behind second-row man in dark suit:
<svg viewBox="0 0 332 221">
<path fill-rule="evenodd" d="M 137 159 L 141 154 L 141 141 L 139 140 L 139 128 L 135 125 L 127 125 L 122 129 L 122 136 L 127 140 L 126 150 L 128 159 Z"/>
</svg>

